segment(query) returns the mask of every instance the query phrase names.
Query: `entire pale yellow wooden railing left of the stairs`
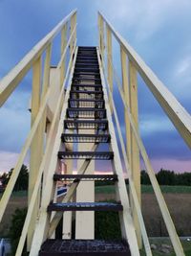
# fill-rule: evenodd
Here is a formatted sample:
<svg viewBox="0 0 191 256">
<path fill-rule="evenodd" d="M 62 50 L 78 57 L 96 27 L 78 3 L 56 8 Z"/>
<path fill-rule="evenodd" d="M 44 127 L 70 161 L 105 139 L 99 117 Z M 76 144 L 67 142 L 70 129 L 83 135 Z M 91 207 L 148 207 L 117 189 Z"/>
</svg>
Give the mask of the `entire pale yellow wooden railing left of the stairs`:
<svg viewBox="0 0 191 256">
<path fill-rule="evenodd" d="M 69 33 L 68 33 L 69 32 Z M 51 80 L 51 57 L 53 39 L 56 35 L 61 34 L 61 55 L 59 63 L 55 68 L 59 80 Z M 0 201 L 0 221 L 4 216 L 6 207 L 11 198 L 15 182 L 20 173 L 22 164 L 26 158 L 28 151 L 31 150 L 31 165 L 30 165 L 30 179 L 29 182 L 33 183 L 31 186 L 31 198 L 29 200 L 29 209 L 25 222 L 25 228 L 22 233 L 19 251 L 16 255 L 21 255 L 23 246 L 25 244 L 26 235 L 31 231 L 29 225 L 32 222 L 34 207 L 39 195 L 39 188 L 41 184 L 42 175 L 45 177 L 45 168 L 42 163 L 45 156 L 51 152 L 51 143 L 54 140 L 54 133 L 59 121 L 60 109 L 64 101 L 64 93 L 66 81 L 70 75 L 71 67 L 74 61 L 74 51 L 76 47 L 76 10 L 67 15 L 53 31 L 40 40 L 12 70 L 11 72 L 0 81 L 0 105 L 4 105 L 11 93 L 19 85 L 22 79 L 32 69 L 32 128 L 28 134 L 23 149 L 19 155 L 16 166 L 12 171 L 10 181 Z M 44 70 L 42 70 L 42 55 L 46 54 L 44 61 Z M 69 55 L 69 61 L 67 61 Z M 66 70 L 67 67 L 67 70 Z M 42 78 L 42 79 L 41 79 Z M 52 84 L 53 83 L 53 84 Z M 50 109 L 50 101 L 53 99 L 53 93 L 56 88 L 59 88 L 59 99 L 57 99 L 52 118 L 48 120 L 48 111 Z M 44 143 L 44 134 L 47 126 L 50 126 L 49 135 L 47 136 L 46 143 Z M 40 169 L 41 167 L 41 169 Z M 45 165 L 44 165 L 45 167 Z M 32 171 L 35 171 L 35 173 Z M 44 180 L 46 182 L 46 180 Z M 37 205 L 36 210 L 38 210 Z M 28 210 L 29 210 L 28 209 Z M 37 211 L 36 211 L 37 212 Z"/>
</svg>

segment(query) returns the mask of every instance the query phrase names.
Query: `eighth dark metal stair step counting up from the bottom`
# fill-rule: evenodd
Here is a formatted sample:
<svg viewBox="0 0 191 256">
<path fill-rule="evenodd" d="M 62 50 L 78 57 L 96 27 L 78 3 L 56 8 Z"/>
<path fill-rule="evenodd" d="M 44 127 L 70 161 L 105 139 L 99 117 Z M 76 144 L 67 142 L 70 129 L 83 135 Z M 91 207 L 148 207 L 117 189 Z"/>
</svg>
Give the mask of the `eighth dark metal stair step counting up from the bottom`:
<svg viewBox="0 0 191 256">
<path fill-rule="evenodd" d="M 77 100 L 70 99 L 69 107 L 96 107 L 96 108 L 104 108 L 105 102 L 104 100 Z"/>
</svg>

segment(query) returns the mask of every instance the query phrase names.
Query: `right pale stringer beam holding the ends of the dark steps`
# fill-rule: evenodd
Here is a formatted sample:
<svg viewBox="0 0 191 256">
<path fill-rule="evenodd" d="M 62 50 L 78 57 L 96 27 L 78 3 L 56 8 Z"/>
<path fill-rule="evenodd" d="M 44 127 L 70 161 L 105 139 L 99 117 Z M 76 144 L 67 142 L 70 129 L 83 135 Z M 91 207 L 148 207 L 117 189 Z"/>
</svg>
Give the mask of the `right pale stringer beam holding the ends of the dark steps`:
<svg viewBox="0 0 191 256">
<path fill-rule="evenodd" d="M 114 151 L 114 159 L 112 161 L 113 170 L 118 177 L 118 182 L 116 182 L 117 197 L 121 201 L 121 204 L 123 206 L 123 211 L 119 213 L 121 233 L 122 233 L 123 239 L 125 239 L 129 244 L 132 256 L 138 256 L 139 255 L 138 240 L 136 236 L 134 221 L 131 215 L 129 198 L 127 194 L 124 175 L 122 171 L 122 164 L 121 164 L 120 155 L 119 155 L 118 146 L 117 146 L 117 136 L 116 136 L 113 120 L 112 120 L 112 112 L 109 105 L 109 99 L 106 91 L 106 83 L 104 79 L 102 63 L 100 60 L 100 53 L 98 49 L 97 49 L 97 58 L 98 58 L 99 68 L 100 68 L 100 77 L 103 85 L 103 94 L 104 94 L 104 100 L 105 100 L 105 108 L 107 110 L 108 126 L 111 134 L 110 145 L 111 145 L 112 151 Z"/>
</svg>

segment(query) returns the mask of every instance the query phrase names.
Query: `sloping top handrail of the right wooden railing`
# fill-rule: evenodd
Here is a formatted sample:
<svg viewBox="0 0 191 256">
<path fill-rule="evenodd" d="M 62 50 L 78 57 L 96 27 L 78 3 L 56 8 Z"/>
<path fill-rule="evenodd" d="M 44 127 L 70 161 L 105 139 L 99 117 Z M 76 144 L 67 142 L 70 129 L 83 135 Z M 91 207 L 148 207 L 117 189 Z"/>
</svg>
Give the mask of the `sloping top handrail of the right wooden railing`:
<svg viewBox="0 0 191 256">
<path fill-rule="evenodd" d="M 178 102 L 175 96 L 159 81 L 154 72 L 146 65 L 146 63 L 138 56 L 136 51 L 128 44 L 128 42 L 117 33 L 111 23 L 98 12 L 107 26 L 116 37 L 118 43 L 122 46 L 128 58 L 136 66 L 139 75 L 145 81 L 159 105 L 168 115 L 174 126 L 179 130 L 180 136 L 184 139 L 189 148 L 191 148 L 191 116 Z"/>
</svg>

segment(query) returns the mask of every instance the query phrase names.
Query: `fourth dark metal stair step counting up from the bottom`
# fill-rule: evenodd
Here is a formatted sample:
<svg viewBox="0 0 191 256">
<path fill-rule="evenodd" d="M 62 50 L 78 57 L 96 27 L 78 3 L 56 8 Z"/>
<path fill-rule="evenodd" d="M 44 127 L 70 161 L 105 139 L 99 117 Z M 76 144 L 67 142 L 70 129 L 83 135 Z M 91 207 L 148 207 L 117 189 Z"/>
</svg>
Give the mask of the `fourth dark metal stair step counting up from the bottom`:
<svg viewBox="0 0 191 256">
<path fill-rule="evenodd" d="M 112 160 L 113 151 L 58 151 L 59 159 Z"/>
</svg>

